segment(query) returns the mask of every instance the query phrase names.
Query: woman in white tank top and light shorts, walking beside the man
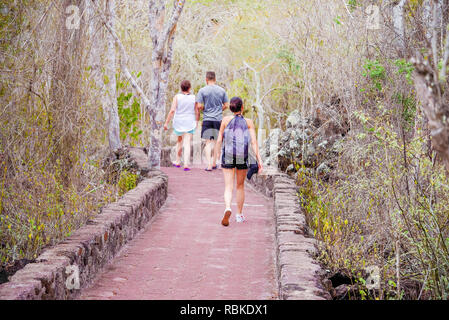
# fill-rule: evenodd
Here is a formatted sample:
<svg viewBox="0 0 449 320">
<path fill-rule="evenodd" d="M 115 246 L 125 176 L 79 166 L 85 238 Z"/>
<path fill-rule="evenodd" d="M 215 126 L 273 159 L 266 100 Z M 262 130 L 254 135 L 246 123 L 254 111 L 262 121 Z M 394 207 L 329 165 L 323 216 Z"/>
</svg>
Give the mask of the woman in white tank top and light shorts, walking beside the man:
<svg viewBox="0 0 449 320">
<path fill-rule="evenodd" d="M 182 93 L 173 98 L 172 107 L 164 124 L 164 130 L 168 130 L 168 123 L 173 118 L 173 131 L 178 136 L 176 162 L 173 166 L 181 167 L 181 155 L 184 149 L 184 171 L 190 171 L 191 142 L 197 127 L 195 95 L 190 94 L 190 88 L 191 84 L 188 80 L 181 82 Z"/>
</svg>

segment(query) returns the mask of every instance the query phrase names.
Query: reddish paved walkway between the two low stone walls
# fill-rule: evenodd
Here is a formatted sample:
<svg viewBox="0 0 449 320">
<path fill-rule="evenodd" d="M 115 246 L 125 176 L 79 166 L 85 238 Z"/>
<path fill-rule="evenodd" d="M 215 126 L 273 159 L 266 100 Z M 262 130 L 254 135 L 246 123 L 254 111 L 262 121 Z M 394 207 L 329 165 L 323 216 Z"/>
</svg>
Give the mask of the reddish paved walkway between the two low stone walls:
<svg viewBox="0 0 449 320">
<path fill-rule="evenodd" d="M 247 221 L 223 227 L 221 170 L 163 171 L 166 204 L 81 299 L 276 299 L 271 201 L 246 186 Z"/>
</svg>

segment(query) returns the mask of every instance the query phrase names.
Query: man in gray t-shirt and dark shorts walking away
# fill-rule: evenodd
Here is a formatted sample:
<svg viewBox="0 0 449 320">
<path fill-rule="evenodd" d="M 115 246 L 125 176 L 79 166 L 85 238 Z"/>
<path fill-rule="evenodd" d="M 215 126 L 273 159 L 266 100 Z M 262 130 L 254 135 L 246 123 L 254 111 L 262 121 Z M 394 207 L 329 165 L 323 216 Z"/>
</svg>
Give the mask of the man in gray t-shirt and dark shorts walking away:
<svg viewBox="0 0 449 320">
<path fill-rule="evenodd" d="M 215 84 L 215 72 L 207 72 L 206 83 L 207 85 L 201 88 L 196 95 L 196 116 L 199 121 L 200 111 L 203 111 L 201 138 L 206 140 L 206 171 L 211 171 L 217 169 L 217 159 L 212 153 L 220 131 L 223 110 L 229 106 L 229 99 L 226 91 Z"/>
</svg>

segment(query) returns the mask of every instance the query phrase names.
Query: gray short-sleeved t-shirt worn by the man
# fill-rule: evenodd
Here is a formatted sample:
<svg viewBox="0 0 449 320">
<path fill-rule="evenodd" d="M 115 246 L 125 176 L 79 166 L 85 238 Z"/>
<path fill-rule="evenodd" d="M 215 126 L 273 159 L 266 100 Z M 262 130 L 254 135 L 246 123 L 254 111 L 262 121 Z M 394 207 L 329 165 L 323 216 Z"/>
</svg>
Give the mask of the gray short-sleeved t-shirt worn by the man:
<svg viewBox="0 0 449 320">
<path fill-rule="evenodd" d="M 207 85 L 198 91 L 196 102 L 204 105 L 206 121 L 221 121 L 223 119 L 223 104 L 229 102 L 225 89 L 214 85 Z"/>
</svg>

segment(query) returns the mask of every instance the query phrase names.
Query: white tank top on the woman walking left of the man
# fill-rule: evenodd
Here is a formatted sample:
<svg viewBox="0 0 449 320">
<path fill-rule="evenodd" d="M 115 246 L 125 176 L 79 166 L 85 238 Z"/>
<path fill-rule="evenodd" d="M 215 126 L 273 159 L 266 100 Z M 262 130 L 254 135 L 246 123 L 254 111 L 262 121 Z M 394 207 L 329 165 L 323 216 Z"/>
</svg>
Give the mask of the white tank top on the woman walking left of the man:
<svg viewBox="0 0 449 320">
<path fill-rule="evenodd" d="M 189 132 L 196 127 L 195 95 L 177 94 L 178 106 L 173 118 L 173 128 L 178 132 Z"/>
</svg>

